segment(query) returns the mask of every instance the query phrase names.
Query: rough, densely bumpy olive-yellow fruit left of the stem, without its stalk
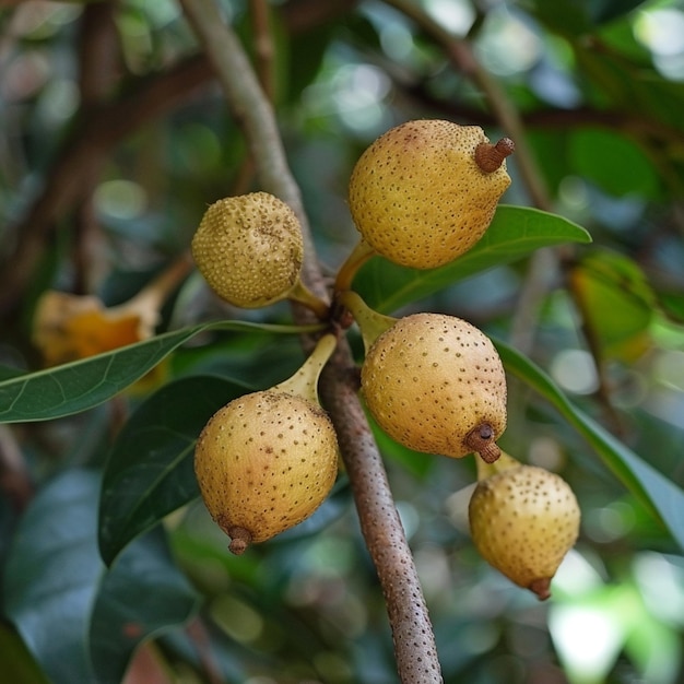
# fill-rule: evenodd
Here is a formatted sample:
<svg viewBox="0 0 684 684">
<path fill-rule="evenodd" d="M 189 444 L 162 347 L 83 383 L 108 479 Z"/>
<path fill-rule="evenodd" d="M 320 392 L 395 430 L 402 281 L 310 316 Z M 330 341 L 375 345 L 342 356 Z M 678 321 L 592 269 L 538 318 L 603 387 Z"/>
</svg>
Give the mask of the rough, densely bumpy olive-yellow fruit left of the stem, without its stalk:
<svg viewBox="0 0 684 684">
<path fill-rule="evenodd" d="M 212 290 L 243 308 L 284 298 L 299 278 L 304 257 L 299 221 L 287 204 L 268 192 L 214 202 L 191 248 Z"/>
</svg>

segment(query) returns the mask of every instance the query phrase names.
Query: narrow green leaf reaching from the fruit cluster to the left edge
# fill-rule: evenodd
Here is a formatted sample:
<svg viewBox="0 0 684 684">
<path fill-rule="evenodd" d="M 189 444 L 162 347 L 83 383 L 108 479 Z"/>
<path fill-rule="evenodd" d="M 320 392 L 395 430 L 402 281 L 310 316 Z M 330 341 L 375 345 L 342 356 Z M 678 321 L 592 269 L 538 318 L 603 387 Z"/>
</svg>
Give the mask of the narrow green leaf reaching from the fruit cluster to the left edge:
<svg viewBox="0 0 684 684">
<path fill-rule="evenodd" d="M 320 326 L 275 326 L 216 321 L 167 332 L 56 368 L 0 382 L 0 423 L 62 417 L 92 409 L 139 380 L 165 356 L 193 335 L 208 330 L 264 330 L 300 333 Z"/>
</svg>

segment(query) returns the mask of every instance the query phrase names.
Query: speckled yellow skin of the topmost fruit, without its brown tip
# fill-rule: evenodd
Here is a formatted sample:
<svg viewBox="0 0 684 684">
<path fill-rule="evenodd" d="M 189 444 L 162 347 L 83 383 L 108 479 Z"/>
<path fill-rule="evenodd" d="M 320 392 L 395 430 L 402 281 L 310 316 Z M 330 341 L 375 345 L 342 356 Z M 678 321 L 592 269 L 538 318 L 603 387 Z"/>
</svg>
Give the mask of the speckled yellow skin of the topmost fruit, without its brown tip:
<svg viewBox="0 0 684 684">
<path fill-rule="evenodd" d="M 352 172 L 349 204 L 357 229 L 394 263 L 432 269 L 468 251 L 484 234 L 510 185 L 506 163 L 484 173 L 477 126 L 425 119 L 378 138 Z"/>
</svg>

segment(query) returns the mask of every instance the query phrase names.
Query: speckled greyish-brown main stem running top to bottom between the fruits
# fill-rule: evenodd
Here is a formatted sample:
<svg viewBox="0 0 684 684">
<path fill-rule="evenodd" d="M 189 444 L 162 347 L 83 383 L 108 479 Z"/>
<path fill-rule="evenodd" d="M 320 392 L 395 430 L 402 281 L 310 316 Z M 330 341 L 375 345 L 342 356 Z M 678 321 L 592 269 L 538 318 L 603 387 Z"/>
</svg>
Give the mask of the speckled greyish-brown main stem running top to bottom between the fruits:
<svg viewBox="0 0 684 684">
<path fill-rule="evenodd" d="M 239 118 L 258 164 L 264 190 L 288 202 L 299 215 L 306 243 L 303 279 L 326 295 L 311 247 L 299 189 L 287 167 L 274 114 L 233 31 L 223 24 L 212 0 L 181 0 L 186 15 L 210 55 L 226 98 Z M 239 74 L 239 78 L 236 78 Z M 321 377 L 321 396 L 338 429 L 361 519 L 362 531 L 387 600 L 400 679 L 405 684 L 441 682 L 433 628 L 377 445 L 356 388 L 349 377 L 354 363 L 344 341 Z"/>
</svg>

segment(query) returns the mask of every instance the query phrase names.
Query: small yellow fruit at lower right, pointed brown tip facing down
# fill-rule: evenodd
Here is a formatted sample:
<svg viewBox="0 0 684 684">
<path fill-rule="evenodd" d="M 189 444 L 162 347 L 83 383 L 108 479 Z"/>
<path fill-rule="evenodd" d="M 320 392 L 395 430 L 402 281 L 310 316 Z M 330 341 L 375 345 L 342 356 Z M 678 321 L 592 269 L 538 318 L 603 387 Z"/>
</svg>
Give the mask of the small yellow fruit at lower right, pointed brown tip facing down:
<svg viewBox="0 0 684 684">
<path fill-rule="evenodd" d="M 482 556 L 541 600 L 579 533 L 580 510 L 569 485 L 555 473 L 518 465 L 482 480 L 469 506 Z"/>
</svg>

